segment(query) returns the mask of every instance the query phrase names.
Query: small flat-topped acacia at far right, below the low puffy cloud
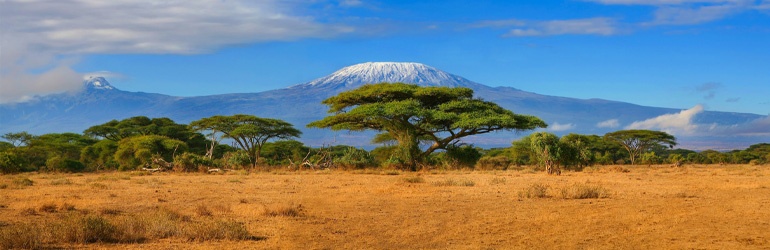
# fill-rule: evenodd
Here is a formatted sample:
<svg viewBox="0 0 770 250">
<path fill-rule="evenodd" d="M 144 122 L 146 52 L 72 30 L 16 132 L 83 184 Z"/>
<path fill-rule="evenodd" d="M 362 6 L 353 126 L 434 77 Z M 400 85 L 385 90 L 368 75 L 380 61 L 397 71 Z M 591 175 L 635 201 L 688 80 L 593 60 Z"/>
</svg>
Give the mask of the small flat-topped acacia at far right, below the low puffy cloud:
<svg viewBox="0 0 770 250">
<path fill-rule="evenodd" d="M 628 151 L 631 165 L 642 153 L 656 146 L 666 145 L 669 148 L 676 146 L 676 137 L 666 132 L 652 130 L 620 130 L 604 135 L 604 138 L 614 141 Z"/>
</svg>

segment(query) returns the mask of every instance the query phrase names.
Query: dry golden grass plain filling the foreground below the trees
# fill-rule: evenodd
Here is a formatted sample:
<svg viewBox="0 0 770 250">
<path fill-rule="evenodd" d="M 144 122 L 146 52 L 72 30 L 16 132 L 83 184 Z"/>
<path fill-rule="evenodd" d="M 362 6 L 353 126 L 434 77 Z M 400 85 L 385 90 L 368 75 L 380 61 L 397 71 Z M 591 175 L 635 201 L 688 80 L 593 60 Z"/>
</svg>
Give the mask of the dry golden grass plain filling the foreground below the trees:
<svg viewBox="0 0 770 250">
<path fill-rule="evenodd" d="M 394 173 L 0 176 L 0 248 L 770 248 L 768 166 Z"/>
</svg>

